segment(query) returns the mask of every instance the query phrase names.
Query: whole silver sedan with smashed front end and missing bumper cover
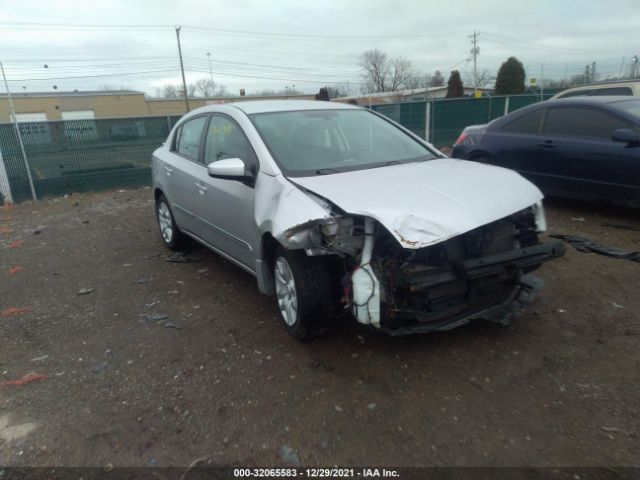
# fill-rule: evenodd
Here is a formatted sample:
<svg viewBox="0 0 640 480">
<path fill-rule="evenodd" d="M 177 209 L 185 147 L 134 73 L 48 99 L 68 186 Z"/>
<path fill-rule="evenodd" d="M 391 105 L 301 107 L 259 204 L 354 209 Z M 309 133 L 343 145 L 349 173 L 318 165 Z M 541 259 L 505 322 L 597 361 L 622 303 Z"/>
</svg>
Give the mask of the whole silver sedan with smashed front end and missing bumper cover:
<svg viewBox="0 0 640 480">
<path fill-rule="evenodd" d="M 538 240 L 542 194 L 519 174 L 345 104 L 194 110 L 154 152 L 153 188 L 166 246 L 191 237 L 255 275 L 298 339 L 344 311 L 394 335 L 507 324 L 564 254 Z"/>
</svg>

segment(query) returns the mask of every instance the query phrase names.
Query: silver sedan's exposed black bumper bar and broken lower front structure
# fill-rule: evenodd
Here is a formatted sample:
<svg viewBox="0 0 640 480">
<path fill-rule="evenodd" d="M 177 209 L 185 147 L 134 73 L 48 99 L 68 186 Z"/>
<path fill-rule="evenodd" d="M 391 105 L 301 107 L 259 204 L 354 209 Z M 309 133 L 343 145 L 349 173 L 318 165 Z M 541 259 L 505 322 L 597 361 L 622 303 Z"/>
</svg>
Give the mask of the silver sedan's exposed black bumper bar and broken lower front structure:
<svg viewBox="0 0 640 480">
<path fill-rule="evenodd" d="M 410 295 L 428 299 L 428 307 L 387 309 L 381 330 L 391 335 L 442 331 L 475 319 L 508 325 L 542 287 L 542 280 L 528 272 L 564 254 L 563 242 L 553 241 L 443 268 L 405 271 Z"/>
</svg>

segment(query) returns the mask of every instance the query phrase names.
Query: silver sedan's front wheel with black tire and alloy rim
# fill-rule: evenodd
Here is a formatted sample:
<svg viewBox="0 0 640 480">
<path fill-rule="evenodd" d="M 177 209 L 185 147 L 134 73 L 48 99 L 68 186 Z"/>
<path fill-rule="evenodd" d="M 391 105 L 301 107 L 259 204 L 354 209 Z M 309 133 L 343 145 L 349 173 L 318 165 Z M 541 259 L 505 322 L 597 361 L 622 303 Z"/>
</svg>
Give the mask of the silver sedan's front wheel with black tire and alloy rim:
<svg viewBox="0 0 640 480">
<path fill-rule="evenodd" d="M 280 319 L 297 340 L 310 340 L 331 326 L 333 302 L 326 259 L 309 257 L 302 250 L 279 248 L 273 277 Z"/>
</svg>

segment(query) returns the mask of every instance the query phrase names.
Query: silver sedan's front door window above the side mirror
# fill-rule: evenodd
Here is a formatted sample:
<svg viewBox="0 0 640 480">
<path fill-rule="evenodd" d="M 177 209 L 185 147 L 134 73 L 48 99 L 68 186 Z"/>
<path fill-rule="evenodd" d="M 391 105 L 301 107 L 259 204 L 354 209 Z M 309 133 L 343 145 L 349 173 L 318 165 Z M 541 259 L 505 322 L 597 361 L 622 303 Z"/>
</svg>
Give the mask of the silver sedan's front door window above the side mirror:
<svg viewBox="0 0 640 480">
<path fill-rule="evenodd" d="M 226 117 L 211 117 L 204 149 L 206 165 L 225 158 L 239 158 L 251 165 L 254 157 L 249 140 L 235 122 Z"/>
</svg>

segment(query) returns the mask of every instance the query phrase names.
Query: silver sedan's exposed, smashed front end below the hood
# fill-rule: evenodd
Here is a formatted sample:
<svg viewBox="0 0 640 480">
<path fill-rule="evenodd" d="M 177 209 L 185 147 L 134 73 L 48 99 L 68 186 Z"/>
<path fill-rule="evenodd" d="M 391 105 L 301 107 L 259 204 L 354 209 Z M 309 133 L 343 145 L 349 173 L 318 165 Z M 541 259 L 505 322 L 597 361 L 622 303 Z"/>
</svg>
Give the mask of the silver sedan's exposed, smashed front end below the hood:
<svg viewBox="0 0 640 480">
<path fill-rule="evenodd" d="M 308 255 L 339 257 L 342 301 L 360 323 L 392 335 L 473 319 L 506 325 L 542 284 L 531 272 L 565 253 L 561 241 L 539 242 L 541 208 L 425 247 L 363 216 L 336 215 L 289 234 L 308 239 Z"/>
</svg>

